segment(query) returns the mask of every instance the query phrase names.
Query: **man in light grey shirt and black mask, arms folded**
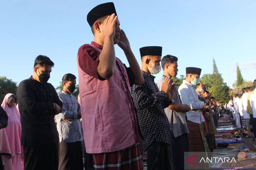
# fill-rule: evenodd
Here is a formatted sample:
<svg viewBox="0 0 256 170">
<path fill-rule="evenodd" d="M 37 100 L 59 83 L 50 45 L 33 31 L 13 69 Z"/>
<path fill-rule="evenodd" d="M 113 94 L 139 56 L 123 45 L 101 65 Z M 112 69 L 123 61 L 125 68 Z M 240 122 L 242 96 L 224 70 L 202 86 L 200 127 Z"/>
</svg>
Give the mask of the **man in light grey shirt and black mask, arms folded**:
<svg viewBox="0 0 256 170">
<path fill-rule="evenodd" d="M 62 112 L 56 115 L 60 139 L 59 170 L 83 169 L 81 129 L 81 108 L 72 93 L 75 90 L 76 76 L 65 74 L 62 77 L 63 90 L 59 98 L 63 102 Z"/>
</svg>

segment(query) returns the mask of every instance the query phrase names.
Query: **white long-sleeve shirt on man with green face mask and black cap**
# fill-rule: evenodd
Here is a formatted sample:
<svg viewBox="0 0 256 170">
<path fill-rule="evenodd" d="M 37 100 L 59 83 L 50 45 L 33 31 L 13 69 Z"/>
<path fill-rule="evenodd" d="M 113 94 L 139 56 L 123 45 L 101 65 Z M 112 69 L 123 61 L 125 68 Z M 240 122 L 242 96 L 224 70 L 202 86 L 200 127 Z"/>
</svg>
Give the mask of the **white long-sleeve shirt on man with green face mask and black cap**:
<svg viewBox="0 0 256 170">
<path fill-rule="evenodd" d="M 194 123 L 201 124 L 204 122 L 204 117 L 200 109 L 204 108 L 204 102 L 198 101 L 198 94 L 193 86 L 186 80 L 178 88 L 178 93 L 181 96 L 182 104 L 187 104 L 190 106 L 191 110 L 187 112 L 187 118 Z"/>
</svg>

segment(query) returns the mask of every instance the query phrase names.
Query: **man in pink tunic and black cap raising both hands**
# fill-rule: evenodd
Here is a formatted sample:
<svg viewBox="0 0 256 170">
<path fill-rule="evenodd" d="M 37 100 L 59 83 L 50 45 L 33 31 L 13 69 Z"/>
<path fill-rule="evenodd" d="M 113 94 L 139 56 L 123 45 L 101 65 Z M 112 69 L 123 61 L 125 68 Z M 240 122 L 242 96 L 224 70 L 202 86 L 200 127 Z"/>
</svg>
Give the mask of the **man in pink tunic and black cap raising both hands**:
<svg viewBox="0 0 256 170">
<path fill-rule="evenodd" d="M 77 56 L 86 151 L 93 154 L 95 169 L 141 170 L 142 137 L 130 90 L 144 82 L 139 64 L 120 29 L 114 3 L 94 7 L 87 21 L 94 41 L 82 45 Z M 115 57 L 114 44 L 124 51 L 129 68 Z"/>
</svg>

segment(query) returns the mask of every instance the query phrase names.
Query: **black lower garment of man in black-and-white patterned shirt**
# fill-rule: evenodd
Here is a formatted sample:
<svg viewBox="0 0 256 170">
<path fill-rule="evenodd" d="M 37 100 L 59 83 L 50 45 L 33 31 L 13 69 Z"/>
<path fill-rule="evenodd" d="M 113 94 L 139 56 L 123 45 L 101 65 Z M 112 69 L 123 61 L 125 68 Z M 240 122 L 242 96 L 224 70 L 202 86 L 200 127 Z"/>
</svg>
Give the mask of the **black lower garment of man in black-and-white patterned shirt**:
<svg viewBox="0 0 256 170">
<path fill-rule="evenodd" d="M 153 142 L 148 146 L 147 170 L 174 170 L 171 145 Z"/>
</svg>

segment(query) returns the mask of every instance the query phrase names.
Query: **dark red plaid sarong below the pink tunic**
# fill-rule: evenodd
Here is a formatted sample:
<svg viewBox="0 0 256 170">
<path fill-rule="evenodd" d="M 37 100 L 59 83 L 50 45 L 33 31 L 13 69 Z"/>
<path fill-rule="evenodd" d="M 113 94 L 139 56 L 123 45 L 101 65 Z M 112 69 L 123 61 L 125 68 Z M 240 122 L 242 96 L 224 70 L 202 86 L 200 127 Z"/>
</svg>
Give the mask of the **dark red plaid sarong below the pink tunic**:
<svg viewBox="0 0 256 170">
<path fill-rule="evenodd" d="M 114 152 L 93 154 L 93 166 L 96 170 L 143 170 L 140 144 Z"/>
</svg>

